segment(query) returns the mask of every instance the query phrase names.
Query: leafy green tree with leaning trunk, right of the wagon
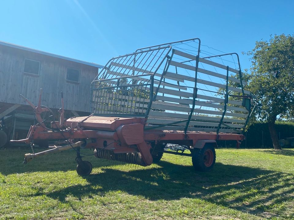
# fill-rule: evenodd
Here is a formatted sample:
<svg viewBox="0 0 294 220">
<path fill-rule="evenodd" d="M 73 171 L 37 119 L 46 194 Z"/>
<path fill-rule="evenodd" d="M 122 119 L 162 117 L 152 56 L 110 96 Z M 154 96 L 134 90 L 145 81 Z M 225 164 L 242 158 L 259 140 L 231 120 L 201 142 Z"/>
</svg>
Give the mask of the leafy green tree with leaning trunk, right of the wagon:
<svg viewBox="0 0 294 220">
<path fill-rule="evenodd" d="M 294 113 L 294 35 L 270 35 L 269 41 L 257 41 L 251 56 L 250 72 L 244 80 L 257 98 L 256 117 L 268 123 L 274 149 L 281 149 L 274 128 L 277 116 L 291 118 Z"/>
</svg>

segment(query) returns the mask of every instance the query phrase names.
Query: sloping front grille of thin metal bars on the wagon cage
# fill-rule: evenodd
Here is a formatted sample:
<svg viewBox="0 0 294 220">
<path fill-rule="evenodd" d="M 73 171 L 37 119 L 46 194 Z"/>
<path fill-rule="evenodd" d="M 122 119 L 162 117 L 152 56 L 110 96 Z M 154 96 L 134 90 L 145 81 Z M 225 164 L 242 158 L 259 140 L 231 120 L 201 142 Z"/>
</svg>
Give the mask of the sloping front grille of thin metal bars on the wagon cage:
<svg viewBox="0 0 294 220">
<path fill-rule="evenodd" d="M 164 68 L 170 46 L 111 59 L 92 82 L 92 112 L 96 115 L 145 116 L 153 96 L 154 77 Z"/>
</svg>

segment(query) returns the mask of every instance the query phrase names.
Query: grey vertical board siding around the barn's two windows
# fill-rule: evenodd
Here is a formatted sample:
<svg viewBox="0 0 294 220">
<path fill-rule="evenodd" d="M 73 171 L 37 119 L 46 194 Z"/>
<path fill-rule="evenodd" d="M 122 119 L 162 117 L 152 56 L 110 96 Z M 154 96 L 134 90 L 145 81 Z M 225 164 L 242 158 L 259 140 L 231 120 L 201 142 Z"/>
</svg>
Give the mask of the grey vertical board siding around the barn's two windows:
<svg viewBox="0 0 294 220">
<path fill-rule="evenodd" d="M 40 75 L 24 73 L 25 59 L 40 61 Z M 79 83 L 66 80 L 67 68 L 80 70 Z M 0 45 L 0 102 L 27 105 L 23 94 L 37 105 L 42 88 L 42 105 L 61 108 L 62 90 L 65 109 L 89 112 L 97 72 L 97 67 Z"/>
</svg>

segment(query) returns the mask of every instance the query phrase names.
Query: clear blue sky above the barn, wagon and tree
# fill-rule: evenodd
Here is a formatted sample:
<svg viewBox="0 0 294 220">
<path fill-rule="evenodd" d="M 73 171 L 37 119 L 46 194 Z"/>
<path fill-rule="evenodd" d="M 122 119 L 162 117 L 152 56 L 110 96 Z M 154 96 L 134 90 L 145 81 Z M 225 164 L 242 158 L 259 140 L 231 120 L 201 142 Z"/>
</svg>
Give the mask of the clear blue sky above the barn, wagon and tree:
<svg viewBox="0 0 294 220">
<path fill-rule="evenodd" d="M 104 65 L 137 48 L 198 37 L 239 53 L 294 34 L 294 1 L 2 1 L 0 40 Z M 203 50 L 207 47 L 202 47 Z M 216 53 L 216 52 L 214 52 Z"/>
</svg>

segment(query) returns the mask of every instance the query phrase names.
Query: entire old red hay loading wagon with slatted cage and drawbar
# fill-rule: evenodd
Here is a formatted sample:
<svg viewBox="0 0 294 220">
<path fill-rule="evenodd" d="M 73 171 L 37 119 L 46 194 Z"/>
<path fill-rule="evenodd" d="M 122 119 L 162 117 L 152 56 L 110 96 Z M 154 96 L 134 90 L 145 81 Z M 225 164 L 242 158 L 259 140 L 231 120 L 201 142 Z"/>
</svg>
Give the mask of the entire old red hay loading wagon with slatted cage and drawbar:
<svg viewBox="0 0 294 220">
<path fill-rule="evenodd" d="M 239 145 L 244 139 L 254 100 L 243 89 L 238 54 L 205 57 L 200 46 L 195 38 L 112 58 L 92 81 L 87 117 L 64 119 L 62 95 L 59 121 L 53 119 L 48 128 L 42 115 L 51 110 L 41 105 L 41 93 L 37 107 L 25 99 L 38 123 L 26 139 L 11 142 L 30 143 L 33 150 L 34 143 L 63 140 L 66 145 L 25 154 L 24 163 L 73 148 L 80 175 L 92 171 L 81 158 L 83 148 L 94 149 L 97 158 L 141 166 L 158 162 L 163 153 L 190 156 L 196 170 L 211 170 L 216 141 Z"/>
</svg>

